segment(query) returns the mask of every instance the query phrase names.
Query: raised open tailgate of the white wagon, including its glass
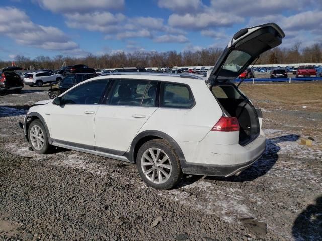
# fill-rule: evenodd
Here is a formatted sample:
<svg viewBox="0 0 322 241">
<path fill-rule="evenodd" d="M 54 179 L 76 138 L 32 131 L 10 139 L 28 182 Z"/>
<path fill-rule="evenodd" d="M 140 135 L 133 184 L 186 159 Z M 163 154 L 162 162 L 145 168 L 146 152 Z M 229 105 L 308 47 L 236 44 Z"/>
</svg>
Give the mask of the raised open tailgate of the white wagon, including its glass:
<svg viewBox="0 0 322 241">
<path fill-rule="evenodd" d="M 229 41 L 212 71 L 207 74 L 211 85 L 238 77 L 263 52 L 282 43 L 285 37 L 274 23 L 241 29 Z"/>
</svg>

